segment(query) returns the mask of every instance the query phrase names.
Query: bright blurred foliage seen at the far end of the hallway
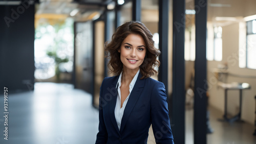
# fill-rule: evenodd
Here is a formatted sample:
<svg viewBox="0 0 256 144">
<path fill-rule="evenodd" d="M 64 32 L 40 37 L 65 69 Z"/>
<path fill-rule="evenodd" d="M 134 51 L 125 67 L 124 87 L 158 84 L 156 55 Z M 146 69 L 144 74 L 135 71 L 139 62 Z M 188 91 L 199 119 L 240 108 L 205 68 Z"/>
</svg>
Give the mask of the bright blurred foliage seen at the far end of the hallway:
<svg viewBox="0 0 256 144">
<path fill-rule="evenodd" d="M 72 61 L 73 58 L 73 53 L 70 53 L 70 43 L 74 42 L 73 20 L 55 20 L 53 23 L 42 21 L 35 30 L 35 39 L 39 41 L 41 40 L 38 44 L 40 46 L 38 47 L 45 49 L 45 54 L 54 59 L 55 75 L 57 82 L 59 82 L 61 73 L 59 64 L 69 62 L 70 60 Z"/>
</svg>

